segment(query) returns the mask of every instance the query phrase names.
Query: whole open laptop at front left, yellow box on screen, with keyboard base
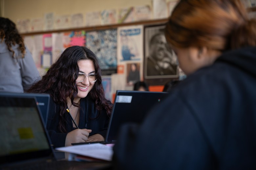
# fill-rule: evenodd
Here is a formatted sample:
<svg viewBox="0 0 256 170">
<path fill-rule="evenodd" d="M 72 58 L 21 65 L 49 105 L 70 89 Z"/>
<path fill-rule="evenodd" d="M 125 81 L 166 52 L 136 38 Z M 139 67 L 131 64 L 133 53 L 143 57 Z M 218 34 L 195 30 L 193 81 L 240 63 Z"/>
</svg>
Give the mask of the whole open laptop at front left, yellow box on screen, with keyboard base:
<svg viewBox="0 0 256 170">
<path fill-rule="evenodd" d="M 0 110 L 0 169 L 92 168 L 89 162 L 56 161 L 34 96 L 0 92 Z"/>
</svg>

